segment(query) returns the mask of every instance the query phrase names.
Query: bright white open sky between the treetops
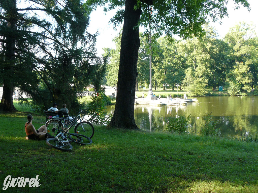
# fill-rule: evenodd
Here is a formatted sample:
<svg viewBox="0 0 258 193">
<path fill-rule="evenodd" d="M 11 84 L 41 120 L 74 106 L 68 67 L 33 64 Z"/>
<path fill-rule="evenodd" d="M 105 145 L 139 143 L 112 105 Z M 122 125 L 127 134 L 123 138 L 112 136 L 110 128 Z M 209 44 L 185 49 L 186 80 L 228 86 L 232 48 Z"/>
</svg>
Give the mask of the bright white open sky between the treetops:
<svg viewBox="0 0 258 193">
<path fill-rule="evenodd" d="M 247 8 L 243 6 L 240 6 L 240 9 L 238 10 L 234 10 L 233 7 L 235 7 L 235 4 L 230 0 L 227 6 L 228 17 L 221 20 L 223 24 L 220 25 L 219 22 L 211 23 L 211 25 L 217 30 L 219 38 L 223 38 L 230 28 L 243 21 L 248 24 L 253 23 L 256 25 L 256 34 L 258 34 L 258 0 L 248 0 L 248 2 L 251 8 L 250 12 L 248 12 Z M 103 8 L 98 7 L 90 16 L 90 26 L 87 28 L 87 31 L 95 33 L 99 30 L 99 36 L 96 42 L 96 49 L 99 55 L 104 53 L 102 48 L 115 48 L 115 43 L 112 42 L 112 39 L 114 39 L 116 34 L 119 32 L 119 29 L 118 31 L 114 31 L 113 25 L 109 24 L 109 20 L 114 14 L 115 11 L 113 10 L 104 15 Z M 143 28 L 140 28 L 140 31 L 143 31 Z"/>
</svg>

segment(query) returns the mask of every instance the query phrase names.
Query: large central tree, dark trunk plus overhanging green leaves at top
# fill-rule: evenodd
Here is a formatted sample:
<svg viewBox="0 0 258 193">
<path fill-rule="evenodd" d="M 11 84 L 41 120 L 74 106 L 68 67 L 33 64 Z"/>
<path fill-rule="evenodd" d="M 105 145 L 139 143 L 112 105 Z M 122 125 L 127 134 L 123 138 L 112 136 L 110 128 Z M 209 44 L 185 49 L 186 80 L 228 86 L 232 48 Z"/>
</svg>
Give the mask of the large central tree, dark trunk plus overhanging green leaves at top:
<svg viewBox="0 0 258 193">
<path fill-rule="evenodd" d="M 124 22 L 121 39 L 120 64 L 118 72 L 118 92 L 114 115 L 109 127 L 138 129 L 134 120 L 135 83 L 137 59 L 140 47 L 139 25 L 146 29 L 151 23 L 155 36 L 166 32 L 168 37 L 179 34 L 181 37 L 196 37 L 203 33 L 202 25 L 207 15 L 213 21 L 227 15 L 227 0 L 201 1 L 91 1 L 94 5 L 109 3 L 108 8 L 121 7 L 112 21 Z M 248 7 L 246 0 L 234 2 Z M 152 8 L 151 8 L 152 6 Z M 148 34 L 148 30 L 146 30 Z M 154 36 L 154 37 L 155 37 Z M 155 38 L 154 38 L 155 39 Z"/>
</svg>

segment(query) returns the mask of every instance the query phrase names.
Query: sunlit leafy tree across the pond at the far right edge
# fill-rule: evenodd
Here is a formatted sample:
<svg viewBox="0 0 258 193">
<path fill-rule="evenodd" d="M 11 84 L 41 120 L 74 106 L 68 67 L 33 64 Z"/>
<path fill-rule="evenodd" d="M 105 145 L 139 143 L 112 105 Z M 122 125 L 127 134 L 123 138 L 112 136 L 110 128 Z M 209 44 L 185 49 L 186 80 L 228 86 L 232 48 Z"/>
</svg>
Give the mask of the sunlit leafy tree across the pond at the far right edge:
<svg viewBox="0 0 258 193">
<path fill-rule="evenodd" d="M 224 38 L 230 47 L 229 58 L 232 60 L 227 80 L 230 85 L 232 80 L 236 80 L 240 85 L 240 92 L 250 92 L 254 85 L 257 86 L 258 52 L 257 39 L 252 38 L 253 34 L 254 26 L 239 23 Z"/>
</svg>

